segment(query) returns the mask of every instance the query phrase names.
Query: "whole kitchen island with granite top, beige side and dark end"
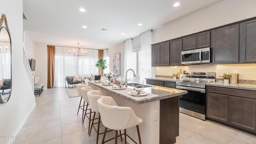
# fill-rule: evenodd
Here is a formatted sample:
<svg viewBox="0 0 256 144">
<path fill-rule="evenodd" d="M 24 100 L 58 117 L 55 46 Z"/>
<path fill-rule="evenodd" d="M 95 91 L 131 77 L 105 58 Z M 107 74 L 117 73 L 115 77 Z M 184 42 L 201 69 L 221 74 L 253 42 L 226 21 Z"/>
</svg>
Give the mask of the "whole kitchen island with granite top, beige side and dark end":
<svg viewBox="0 0 256 144">
<path fill-rule="evenodd" d="M 124 90 L 112 89 L 102 83 L 89 82 L 95 90 L 100 90 L 105 96 L 114 98 L 119 106 L 131 107 L 136 115 L 143 119 L 139 124 L 140 136 L 143 144 L 174 144 L 179 135 L 179 96 L 187 91 L 174 88 L 152 86 L 143 88 L 148 92 L 146 96 L 131 96 L 128 92 L 134 91 L 128 86 Z M 135 141 L 138 142 L 136 128 L 127 130 Z M 129 143 L 132 143 L 127 139 Z"/>
</svg>

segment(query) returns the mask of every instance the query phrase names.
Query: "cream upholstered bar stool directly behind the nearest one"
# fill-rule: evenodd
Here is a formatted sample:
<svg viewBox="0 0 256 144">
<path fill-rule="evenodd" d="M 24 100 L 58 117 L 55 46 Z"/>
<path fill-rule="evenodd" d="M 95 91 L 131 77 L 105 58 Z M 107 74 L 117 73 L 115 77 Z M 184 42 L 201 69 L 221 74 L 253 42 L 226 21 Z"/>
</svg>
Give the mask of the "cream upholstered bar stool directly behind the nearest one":
<svg viewBox="0 0 256 144">
<path fill-rule="evenodd" d="M 90 90 L 89 92 L 87 92 L 87 96 L 88 96 L 88 100 L 89 100 L 89 103 L 90 103 L 90 107 L 91 107 L 91 110 L 94 111 L 94 115 L 93 115 L 93 118 L 92 118 L 92 124 L 91 124 L 91 128 L 89 129 L 90 133 L 89 133 L 89 136 L 92 132 L 92 127 L 94 128 L 94 130 L 96 131 L 97 133 L 97 139 L 96 139 L 96 144 L 98 144 L 98 139 L 99 139 L 99 134 L 103 134 L 99 132 L 100 130 L 100 112 L 99 112 L 99 109 L 98 109 L 98 103 L 97 103 L 97 100 L 99 98 L 102 98 L 102 97 L 106 97 L 106 96 L 102 96 L 102 93 L 100 92 L 100 90 Z M 98 112 L 99 114 L 99 118 L 98 118 L 98 122 L 97 123 L 94 123 L 94 119 L 95 119 L 95 114 L 96 112 Z M 97 127 L 97 130 L 96 128 L 94 127 L 94 124 L 98 124 L 98 127 Z M 105 130 L 106 131 L 106 130 Z M 110 130 L 111 131 L 111 130 Z M 107 132 L 107 131 L 106 131 Z M 109 132 L 109 131 L 108 131 Z M 120 131 L 121 133 L 121 131 Z M 122 138 L 121 138 L 122 140 Z"/>
</svg>

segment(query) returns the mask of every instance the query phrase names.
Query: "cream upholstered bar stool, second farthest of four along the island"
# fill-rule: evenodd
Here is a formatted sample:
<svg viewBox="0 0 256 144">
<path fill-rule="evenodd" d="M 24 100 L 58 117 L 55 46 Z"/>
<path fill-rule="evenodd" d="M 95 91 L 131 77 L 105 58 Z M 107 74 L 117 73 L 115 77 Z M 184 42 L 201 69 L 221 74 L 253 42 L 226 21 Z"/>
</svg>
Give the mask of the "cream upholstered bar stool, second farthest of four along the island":
<svg viewBox="0 0 256 144">
<path fill-rule="evenodd" d="M 89 119 L 89 130 L 90 130 L 90 122 L 91 122 L 91 113 L 92 113 L 92 110 L 91 109 L 88 109 L 88 105 L 89 105 L 89 100 L 88 100 L 88 97 L 87 97 L 87 92 L 89 92 L 90 90 L 93 90 L 92 87 L 90 86 L 85 86 L 85 87 L 82 87 L 81 88 L 81 93 L 82 93 L 82 98 L 84 100 L 84 106 L 85 106 L 85 103 L 86 103 L 86 108 L 84 110 L 84 106 L 83 106 L 83 110 L 85 111 L 85 114 L 84 114 L 84 111 L 83 111 L 83 114 L 82 116 L 84 117 L 85 119 L 85 116 Z M 90 110 L 89 113 L 86 113 L 87 110 Z M 87 114 L 90 114 L 90 117 L 87 116 Z M 82 121 L 84 123 L 84 120 Z"/>
</svg>

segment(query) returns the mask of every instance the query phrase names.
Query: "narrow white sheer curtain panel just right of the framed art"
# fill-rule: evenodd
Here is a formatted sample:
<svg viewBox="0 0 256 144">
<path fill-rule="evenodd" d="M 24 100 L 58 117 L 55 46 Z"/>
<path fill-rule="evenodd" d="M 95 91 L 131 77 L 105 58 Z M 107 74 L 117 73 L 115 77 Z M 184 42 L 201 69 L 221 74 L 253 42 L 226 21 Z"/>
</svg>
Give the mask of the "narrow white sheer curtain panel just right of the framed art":
<svg viewBox="0 0 256 144">
<path fill-rule="evenodd" d="M 128 39 L 124 42 L 124 78 L 126 70 L 132 68 L 132 39 Z M 130 79 L 133 73 L 128 72 L 127 79 Z"/>
</svg>

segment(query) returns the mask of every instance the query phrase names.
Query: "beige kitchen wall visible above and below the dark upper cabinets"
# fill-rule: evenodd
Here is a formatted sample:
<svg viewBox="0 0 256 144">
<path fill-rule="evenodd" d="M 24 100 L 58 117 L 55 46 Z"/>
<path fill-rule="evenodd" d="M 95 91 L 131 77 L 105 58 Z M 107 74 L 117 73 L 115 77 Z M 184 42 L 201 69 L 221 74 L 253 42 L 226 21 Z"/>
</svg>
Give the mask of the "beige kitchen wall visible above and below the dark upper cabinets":
<svg viewBox="0 0 256 144">
<path fill-rule="evenodd" d="M 153 30 L 152 42 L 162 42 L 255 17 L 255 6 L 256 0 L 224 0 L 184 18 L 168 22 L 162 27 Z M 217 78 L 224 72 L 232 73 L 233 70 L 238 70 L 239 79 L 256 80 L 256 75 L 248 74 L 256 71 L 256 64 L 168 66 L 154 67 L 154 71 L 156 75 L 171 76 L 173 72 L 178 72 L 180 68 L 190 72 L 214 71 L 216 72 Z"/>
</svg>

